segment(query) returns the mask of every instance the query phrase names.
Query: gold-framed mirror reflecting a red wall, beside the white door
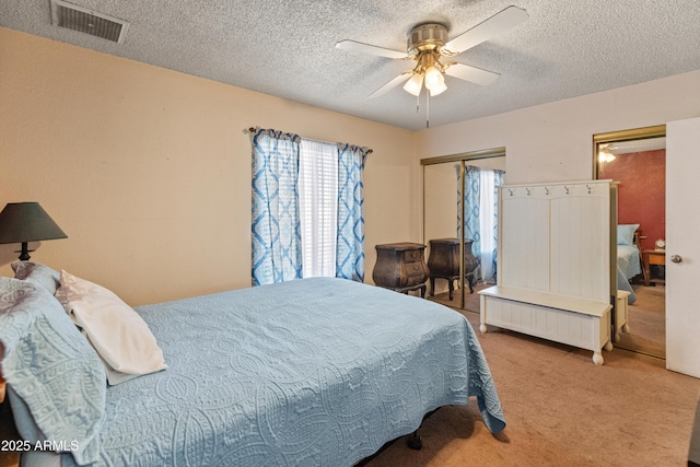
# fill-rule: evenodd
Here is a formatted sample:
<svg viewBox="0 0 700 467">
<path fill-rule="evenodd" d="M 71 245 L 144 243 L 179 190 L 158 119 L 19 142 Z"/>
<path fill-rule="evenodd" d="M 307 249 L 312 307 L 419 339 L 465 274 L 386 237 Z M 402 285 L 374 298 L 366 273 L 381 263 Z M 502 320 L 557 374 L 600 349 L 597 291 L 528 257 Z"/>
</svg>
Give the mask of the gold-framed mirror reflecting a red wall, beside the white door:
<svg viewBox="0 0 700 467">
<path fill-rule="evenodd" d="M 616 347 L 666 355 L 665 138 L 598 144 L 597 178 L 618 182 L 618 290 L 631 292 Z M 658 242 L 661 241 L 661 242 Z M 644 272 L 644 260 L 651 262 Z"/>
</svg>

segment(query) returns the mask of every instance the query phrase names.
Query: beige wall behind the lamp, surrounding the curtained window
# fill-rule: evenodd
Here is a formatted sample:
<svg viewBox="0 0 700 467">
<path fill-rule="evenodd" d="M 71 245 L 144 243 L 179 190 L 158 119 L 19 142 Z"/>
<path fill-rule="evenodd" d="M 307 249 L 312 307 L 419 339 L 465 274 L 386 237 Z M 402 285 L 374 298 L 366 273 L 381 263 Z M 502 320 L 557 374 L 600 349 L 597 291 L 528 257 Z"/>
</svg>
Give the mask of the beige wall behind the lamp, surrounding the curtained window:
<svg viewBox="0 0 700 467">
<path fill-rule="evenodd" d="M 69 238 L 32 259 L 132 305 L 250 284 L 250 126 L 374 150 L 366 281 L 375 244 L 420 240 L 410 131 L 7 28 L 0 63 L 0 205 L 38 201 Z"/>
</svg>

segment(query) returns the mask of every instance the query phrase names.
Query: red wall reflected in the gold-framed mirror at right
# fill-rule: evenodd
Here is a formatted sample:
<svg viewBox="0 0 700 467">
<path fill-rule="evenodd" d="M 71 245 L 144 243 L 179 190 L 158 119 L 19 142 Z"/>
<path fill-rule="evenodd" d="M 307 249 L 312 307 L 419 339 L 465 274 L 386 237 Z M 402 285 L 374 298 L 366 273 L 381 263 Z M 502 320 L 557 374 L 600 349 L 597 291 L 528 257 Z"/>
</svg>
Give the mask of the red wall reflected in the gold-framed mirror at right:
<svg viewBox="0 0 700 467">
<path fill-rule="evenodd" d="M 618 154 L 598 165 L 598 178 L 620 182 L 618 224 L 640 224 L 642 249 L 666 238 L 666 150 Z"/>
</svg>

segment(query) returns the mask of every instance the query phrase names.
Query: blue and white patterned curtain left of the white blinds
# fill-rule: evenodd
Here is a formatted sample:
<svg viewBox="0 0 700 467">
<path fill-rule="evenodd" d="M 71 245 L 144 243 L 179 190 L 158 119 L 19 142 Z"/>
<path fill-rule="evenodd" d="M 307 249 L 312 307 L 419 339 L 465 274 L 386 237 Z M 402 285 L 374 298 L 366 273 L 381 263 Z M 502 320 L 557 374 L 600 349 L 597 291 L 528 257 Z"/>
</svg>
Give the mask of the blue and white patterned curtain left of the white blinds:
<svg viewBox="0 0 700 467">
<path fill-rule="evenodd" d="M 302 277 L 299 219 L 301 138 L 269 129 L 253 136 L 253 284 Z"/>
</svg>

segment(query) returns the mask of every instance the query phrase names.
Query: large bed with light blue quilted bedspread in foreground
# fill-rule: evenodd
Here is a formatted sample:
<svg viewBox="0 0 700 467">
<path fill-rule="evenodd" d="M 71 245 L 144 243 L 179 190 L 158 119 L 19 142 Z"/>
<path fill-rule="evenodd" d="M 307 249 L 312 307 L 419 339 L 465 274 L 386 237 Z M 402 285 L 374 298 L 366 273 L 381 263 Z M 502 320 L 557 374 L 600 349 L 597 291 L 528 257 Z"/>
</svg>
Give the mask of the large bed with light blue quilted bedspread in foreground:
<svg viewBox="0 0 700 467">
<path fill-rule="evenodd" d="M 36 369 L 40 359 L 33 357 L 27 365 L 18 353 L 43 320 L 60 322 L 52 326 L 63 332 L 78 331 L 44 288 L 23 280 L 22 289 L 18 281 L 0 282 L 2 371 L 15 419 L 18 413 L 40 419 L 43 409 L 28 407 L 33 401 L 21 395 L 27 394 L 21 380 L 22 372 L 47 370 Z M 15 303 L 16 290 L 24 294 L 21 303 Z M 42 294 L 42 300 L 25 300 Z M 37 304 L 40 310 L 33 310 Z M 78 427 L 77 435 L 59 443 L 61 454 L 36 456 L 62 466 L 351 466 L 417 430 L 441 406 L 476 401 L 492 433 L 505 427 L 469 323 L 416 296 L 314 278 L 136 312 L 152 330 L 167 367 L 113 386 L 81 383 L 84 392 L 94 393 L 81 416 L 97 421 Z M 34 324 L 13 323 L 22 314 L 33 316 L 24 322 Z M 75 340 L 73 347 L 80 346 Z M 70 360 L 70 374 L 75 374 L 80 359 Z M 60 370 L 55 362 L 47 364 L 51 372 Z M 85 373 L 83 366 L 78 373 Z M 36 392 L 31 388 L 26 398 Z M 61 400 L 52 402 L 56 410 L 65 408 Z M 21 427 L 26 420 L 16 424 L 23 439 L 37 435 Z"/>
</svg>

